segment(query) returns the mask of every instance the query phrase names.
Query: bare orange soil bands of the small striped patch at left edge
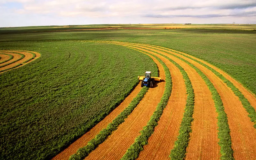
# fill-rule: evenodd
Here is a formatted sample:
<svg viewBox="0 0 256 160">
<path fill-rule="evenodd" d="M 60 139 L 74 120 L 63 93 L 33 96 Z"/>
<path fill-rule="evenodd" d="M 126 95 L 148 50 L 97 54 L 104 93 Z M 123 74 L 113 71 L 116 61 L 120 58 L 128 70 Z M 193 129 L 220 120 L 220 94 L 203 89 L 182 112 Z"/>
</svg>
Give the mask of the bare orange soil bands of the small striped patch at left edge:
<svg viewBox="0 0 256 160">
<path fill-rule="evenodd" d="M 0 73 L 3 73 L 3 72 L 5 72 L 5 71 L 3 71 L 3 70 L 8 69 L 8 68 L 15 67 L 15 66 L 18 65 L 18 64 L 22 64 L 22 65 L 20 65 L 20 66 L 18 66 L 18 67 L 24 66 L 25 64 L 27 64 L 27 63 L 29 63 L 29 62 L 31 62 L 31 61 L 33 61 L 33 60 L 35 60 L 35 59 L 37 59 L 37 58 L 40 57 L 40 54 L 39 54 L 39 53 L 33 52 L 33 53 L 36 54 L 36 57 L 35 57 L 34 59 L 32 59 L 32 60 L 30 60 L 30 61 L 24 63 L 25 61 L 27 61 L 27 60 L 29 60 L 30 58 L 33 57 L 33 54 L 29 53 L 30 51 L 15 50 L 15 51 L 1 51 L 1 52 L 2 52 L 2 53 L 6 53 L 6 54 L 11 54 L 11 55 L 13 56 L 13 59 L 12 59 L 12 60 L 9 60 L 9 61 L 7 61 L 7 62 L 4 62 L 4 63 L 2 63 L 2 64 L 0 65 L 0 66 L 3 66 L 3 65 L 5 65 L 5 64 L 11 63 L 11 64 L 9 64 L 9 65 L 7 65 L 7 66 L 1 67 L 1 68 L 0 68 Z M 20 55 L 20 54 L 17 54 L 17 53 L 23 54 L 25 57 L 24 57 L 23 59 L 17 61 L 17 62 L 14 62 L 15 60 L 18 60 L 18 59 L 21 58 L 21 55 Z M 12 63 L 12 62 L 14 62 L 14 63 Z M 18 67 L 15 67 L 15 68 L 18 68 Z M 9 71 L 9 70 L 6 70 L 6 71 Z"/>
</svg>

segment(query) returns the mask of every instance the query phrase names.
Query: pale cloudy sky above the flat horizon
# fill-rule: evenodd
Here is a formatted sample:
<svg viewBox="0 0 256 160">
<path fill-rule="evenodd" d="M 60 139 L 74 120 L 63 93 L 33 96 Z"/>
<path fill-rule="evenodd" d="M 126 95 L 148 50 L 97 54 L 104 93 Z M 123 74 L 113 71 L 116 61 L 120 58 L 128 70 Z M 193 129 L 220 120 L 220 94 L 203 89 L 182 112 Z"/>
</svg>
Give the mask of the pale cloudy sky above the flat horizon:
<svg viewBox="0 0 256 160">
<path fill-rule="evenodd" d="M 0 0 L 0 27 L 256 24 L 256 0 Z"/>
</svg>

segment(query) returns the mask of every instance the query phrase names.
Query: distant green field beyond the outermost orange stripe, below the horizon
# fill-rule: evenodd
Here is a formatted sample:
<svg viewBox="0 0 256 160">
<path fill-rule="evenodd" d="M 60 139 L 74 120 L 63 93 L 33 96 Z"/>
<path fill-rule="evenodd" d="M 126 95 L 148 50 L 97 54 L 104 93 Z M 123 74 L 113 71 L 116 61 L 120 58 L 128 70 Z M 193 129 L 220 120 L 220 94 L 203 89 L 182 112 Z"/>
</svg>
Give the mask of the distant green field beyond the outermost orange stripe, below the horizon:
<svg viewBox="0 0 256 160">
<path fill-rule="evenodd" d="M 101 25 L 102 26 L 102 25 Z M 184 25 L 185 26 L 185 25 Z M 203 27 L 205 26 L 206 29 Z M 228 25 L 212 25 L 215 29 L 161 30 L 85 30 L 66 32 L 21 32 L 0 30 L 0 41 L 26 40 L 116 40 L 154 44 L 185 52 L 224 70 L 256 94 L 256 31 L 228 30 Z M 250 26 L 250 25 L 249 25 Z M 254 26 L 254 27 L 253 27 Z M 94 26 L 92 26 L 94 27 Z M 251 26 L 255 28 L 255 25 Z M 247 75 L 247 76 L 244 76 Z"/>
</svg>

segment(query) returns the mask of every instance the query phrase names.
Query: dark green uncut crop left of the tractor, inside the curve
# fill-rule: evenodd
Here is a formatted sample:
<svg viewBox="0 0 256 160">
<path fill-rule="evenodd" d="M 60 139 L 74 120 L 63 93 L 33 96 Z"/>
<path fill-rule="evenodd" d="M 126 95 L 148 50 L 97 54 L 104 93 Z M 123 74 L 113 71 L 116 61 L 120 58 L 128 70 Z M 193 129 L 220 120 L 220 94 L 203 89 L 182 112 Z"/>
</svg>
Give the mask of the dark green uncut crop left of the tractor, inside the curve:
<svg viewBox="0 0 256 160">
<path fill-rule="evenodd" d="M 50 159 L 121 103 L 138 83 L 137 76 L 148 69 L 157 73 L 148 56 L 111 44 L 0 46 L 41 53 L 39 59 L 0 74 L 3 159 Z"/>
</svg>

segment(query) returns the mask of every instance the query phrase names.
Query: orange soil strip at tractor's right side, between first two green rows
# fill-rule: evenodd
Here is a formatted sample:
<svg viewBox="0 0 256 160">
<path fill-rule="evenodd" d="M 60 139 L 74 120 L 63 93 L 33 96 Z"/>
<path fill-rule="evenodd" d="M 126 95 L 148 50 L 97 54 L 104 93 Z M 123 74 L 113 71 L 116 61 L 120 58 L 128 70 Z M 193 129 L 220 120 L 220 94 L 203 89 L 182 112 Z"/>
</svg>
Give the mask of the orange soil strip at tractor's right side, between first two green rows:
<svg viewBox="0 0 256 160">
<path fill-rule="evenodd" d="M 159 68 L 159 76 L 165 80 L 164 68 L 154 57 L 151 58 Z M 118 129 L 85 159 L 120 159 L 155 111 L 164 93 L 164 86 L 165 82 L 162 81 L 155 84 L 154 88 L 149 88 L 132 114 L 125 119 L 125 122 L 120 124 Z"/>
</svg>

